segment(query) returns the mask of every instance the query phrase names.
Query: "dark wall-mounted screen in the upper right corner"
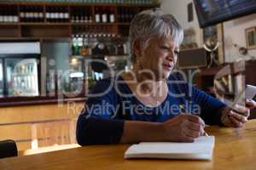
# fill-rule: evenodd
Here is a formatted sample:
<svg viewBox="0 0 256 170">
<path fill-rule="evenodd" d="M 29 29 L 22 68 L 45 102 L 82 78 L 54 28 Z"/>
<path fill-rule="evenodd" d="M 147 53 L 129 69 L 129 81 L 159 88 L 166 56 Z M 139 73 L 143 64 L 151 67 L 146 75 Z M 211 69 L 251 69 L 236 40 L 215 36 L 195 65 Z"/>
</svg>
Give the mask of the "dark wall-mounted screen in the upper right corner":
<svg viewBox="0 0 256 170">
<path fill-rule="evenodd" d="M 256 13 L 256 0 L 194 0 L 201 27 Z"/>
</svg>

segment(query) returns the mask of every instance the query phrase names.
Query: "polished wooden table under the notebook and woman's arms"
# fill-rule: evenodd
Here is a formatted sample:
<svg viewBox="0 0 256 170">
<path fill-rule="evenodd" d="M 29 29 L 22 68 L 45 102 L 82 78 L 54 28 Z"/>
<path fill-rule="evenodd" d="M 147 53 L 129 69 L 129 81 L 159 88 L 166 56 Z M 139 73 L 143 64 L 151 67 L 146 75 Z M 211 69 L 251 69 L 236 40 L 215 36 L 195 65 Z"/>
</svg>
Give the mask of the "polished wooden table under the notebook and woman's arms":
<svg viewBox="0 0 256 170">
<path fill-rule="evenodd" d="M 63 169 L 256 169 L 256 120 L 240 129 L 207 127 L 216 136 L 212 161 L 125 160 L 129 144 L 85 146 L 0 160 L 1 170 Z"/>
</svg>

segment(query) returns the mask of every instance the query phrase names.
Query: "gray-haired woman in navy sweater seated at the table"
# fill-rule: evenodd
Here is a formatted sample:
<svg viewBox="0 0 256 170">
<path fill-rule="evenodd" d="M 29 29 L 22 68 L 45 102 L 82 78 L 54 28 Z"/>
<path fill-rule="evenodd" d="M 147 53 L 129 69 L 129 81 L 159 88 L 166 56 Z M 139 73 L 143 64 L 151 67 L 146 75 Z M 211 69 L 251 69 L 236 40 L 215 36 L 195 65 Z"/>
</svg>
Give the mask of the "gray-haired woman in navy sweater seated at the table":
<svg viewBox="0 0 256 170">
<path fill-rule="evenodd" d="M 79 144 L 193 142 L 204 135 L 205 123 L 242 127 L 247 122 L 246 107 L 231 111 L 171 75 L 183 41 L 183 29 L 171 14 L 159 8 L 137 14 L 129 36 L 133 70 L 97 82 L 79 116 Z"/>
</svg>

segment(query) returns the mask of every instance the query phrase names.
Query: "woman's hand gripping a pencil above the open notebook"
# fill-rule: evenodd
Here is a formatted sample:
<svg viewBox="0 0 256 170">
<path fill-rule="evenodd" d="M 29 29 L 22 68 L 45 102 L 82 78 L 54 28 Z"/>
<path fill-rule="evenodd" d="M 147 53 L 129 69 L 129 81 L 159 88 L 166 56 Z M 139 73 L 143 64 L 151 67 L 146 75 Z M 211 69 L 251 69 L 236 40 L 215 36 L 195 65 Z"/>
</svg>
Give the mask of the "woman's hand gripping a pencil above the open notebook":
<svg viewBox="0 0 256 170">
<path fill-rule="evenodd" d="M 162 127 L 167 141 L 194 142 L 205 133 L 205 122 L 195 115 L 179 115 L 164 122 Z"/>
</svg>

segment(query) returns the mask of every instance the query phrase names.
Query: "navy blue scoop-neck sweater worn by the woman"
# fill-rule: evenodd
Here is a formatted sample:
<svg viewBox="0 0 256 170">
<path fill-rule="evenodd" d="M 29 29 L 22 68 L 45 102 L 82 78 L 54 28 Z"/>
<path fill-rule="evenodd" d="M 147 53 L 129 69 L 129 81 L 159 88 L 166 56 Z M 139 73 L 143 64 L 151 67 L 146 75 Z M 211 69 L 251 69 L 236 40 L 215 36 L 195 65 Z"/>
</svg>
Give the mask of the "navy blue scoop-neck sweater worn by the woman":
<svg viewBox="0 0 256 170">
<path fill-rule="evenodd" d="M 177 74 L 167 84 L 169 93 L 165 101 L 157 107 L 148 107 L 132 94 L 122 77 L 97 82 L 78 119 L 78 143 L 117 144 L 125 120 L 166 122 L 184 111 L 200 115 L 208 125 L 221 124 L 220 109 L 224 103 L 184 82 Z"/>
</svg>

